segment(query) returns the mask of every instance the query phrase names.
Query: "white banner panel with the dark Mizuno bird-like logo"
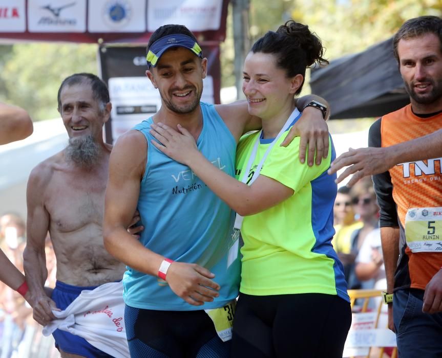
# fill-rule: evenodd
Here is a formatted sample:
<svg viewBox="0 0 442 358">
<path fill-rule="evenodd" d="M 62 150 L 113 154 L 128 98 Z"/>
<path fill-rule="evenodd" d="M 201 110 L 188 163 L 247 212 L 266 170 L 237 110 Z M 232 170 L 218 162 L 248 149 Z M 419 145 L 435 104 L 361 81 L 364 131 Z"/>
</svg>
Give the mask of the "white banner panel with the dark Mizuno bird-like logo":
<svg viewBox="0 0 442 358">
<path fill-rule="evenodd" d="M 86 0 L 28 0 L 29 32 L 86 32 Z"/>
</svg>

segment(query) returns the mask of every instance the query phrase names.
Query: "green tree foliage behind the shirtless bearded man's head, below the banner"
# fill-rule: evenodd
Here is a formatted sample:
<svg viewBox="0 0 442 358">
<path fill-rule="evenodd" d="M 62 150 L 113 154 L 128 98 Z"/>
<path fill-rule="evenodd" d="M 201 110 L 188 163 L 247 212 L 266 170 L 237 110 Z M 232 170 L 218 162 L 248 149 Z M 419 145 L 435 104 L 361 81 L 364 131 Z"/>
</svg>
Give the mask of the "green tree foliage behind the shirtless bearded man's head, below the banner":
<svg viewBox="0 0 442 358">
<path fill-rule="evenodd" d="M 0 100 L 24 107 L 33 120 L 57 118 L 61 81 L 77 72 L 96 74 L 96 54 L 94 44 L 33 42 L 17 43 L 10 49 L 1 46 Z"/>
</svg>

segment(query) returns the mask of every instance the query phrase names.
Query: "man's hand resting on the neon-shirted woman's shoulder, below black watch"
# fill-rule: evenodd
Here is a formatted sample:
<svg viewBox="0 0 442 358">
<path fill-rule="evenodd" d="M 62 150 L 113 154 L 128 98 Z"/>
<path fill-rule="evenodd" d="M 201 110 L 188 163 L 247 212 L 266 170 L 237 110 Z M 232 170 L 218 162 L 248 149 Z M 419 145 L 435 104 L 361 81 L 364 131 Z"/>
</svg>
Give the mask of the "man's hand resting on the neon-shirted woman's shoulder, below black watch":
<svg viewBox="0 0 442 358">
<path fill-rule="evenodd" d="M 313 165 L 315 152 L 317 165 L 321 164 L 323 158 L 327 158 L 329 146 L 328 126 L 318 109 L 305 108 L 301 118 L 290 128 L 281 146 L 288 146 L 294 137 L 301 137 L 299 143 L 299 160 L 301 163 L 305 162 L 307 148 L 307 164 L 310 167 Z"/>
</svg>

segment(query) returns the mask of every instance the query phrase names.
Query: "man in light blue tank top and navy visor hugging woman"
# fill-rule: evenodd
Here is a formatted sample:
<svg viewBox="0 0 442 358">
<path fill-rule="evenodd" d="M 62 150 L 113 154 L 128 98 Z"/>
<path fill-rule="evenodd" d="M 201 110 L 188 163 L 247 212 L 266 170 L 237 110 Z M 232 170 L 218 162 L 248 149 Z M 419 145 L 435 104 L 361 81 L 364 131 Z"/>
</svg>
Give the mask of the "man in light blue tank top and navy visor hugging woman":
<svg viewBox="0 0 442 358">
<path fill-rule="evenodd" d="M 184 26 L 156 30 L 146 58 L 161 108 L 118 139 L 103 223 L 107 250 L 128 265 L 123 296 L 131 356 L 226 357 L 240 280 L 234 213 L 188 167 L 151 145 L 150 130 L 159 122 L 182 125 L 206 158 L 234 176 L 239 138 L 260 128 L 260 119 L 248 114 L 245 101 L 200 102 L 207 59 Z M 298 107 L 312 99 L 300 99 Z M 309 129 L 323 126 L 327 133 L 322 113 L 308 110 L 314 117 L 307 120 Z M 313 151 L 315 141 L 309 139 Z M 324 142 L 328 148 L 328 135 Z M 321 137 L 318 143 L 320 159 Z M 140 240 L 125 230 L 135 209 L 145 228 Z"/>
</svg>

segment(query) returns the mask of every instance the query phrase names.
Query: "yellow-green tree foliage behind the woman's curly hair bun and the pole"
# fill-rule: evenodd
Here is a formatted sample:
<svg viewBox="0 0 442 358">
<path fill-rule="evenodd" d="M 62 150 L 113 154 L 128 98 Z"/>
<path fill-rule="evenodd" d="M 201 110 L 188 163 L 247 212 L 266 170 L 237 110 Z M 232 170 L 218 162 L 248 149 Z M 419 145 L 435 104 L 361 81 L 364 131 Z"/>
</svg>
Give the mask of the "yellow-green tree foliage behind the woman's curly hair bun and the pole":
<svg viewBox="0 0 442 358">
<path fill-rule="evenodd" d="M 292 18 L 318 34 L 332 61 L 387 39 L 405 20 L 420 15 L 441 16 L 442 0 L 250 0 L 249 34 L 253 43 Z M 233 57 L 227 52 L 222 60 L 231 63 Z M 232 74 L 223 69 L 223 85 L 233 85 Z M 308 91 L 304 86 L 303 93 Z"/>
</svg>

